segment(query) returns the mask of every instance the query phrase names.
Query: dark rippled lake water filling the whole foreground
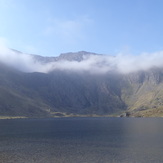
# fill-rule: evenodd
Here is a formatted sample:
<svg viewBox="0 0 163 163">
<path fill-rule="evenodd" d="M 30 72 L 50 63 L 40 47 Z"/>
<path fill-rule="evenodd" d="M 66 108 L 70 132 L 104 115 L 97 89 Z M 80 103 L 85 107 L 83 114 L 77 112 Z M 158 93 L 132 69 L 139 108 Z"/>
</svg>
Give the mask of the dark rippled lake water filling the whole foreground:
<svg viewBox="0 0 163 163">
<path fill-rule="evenodd" d="M 0 120 L 0 163 L 162 163 L 162 118 Z"/>
</svg>

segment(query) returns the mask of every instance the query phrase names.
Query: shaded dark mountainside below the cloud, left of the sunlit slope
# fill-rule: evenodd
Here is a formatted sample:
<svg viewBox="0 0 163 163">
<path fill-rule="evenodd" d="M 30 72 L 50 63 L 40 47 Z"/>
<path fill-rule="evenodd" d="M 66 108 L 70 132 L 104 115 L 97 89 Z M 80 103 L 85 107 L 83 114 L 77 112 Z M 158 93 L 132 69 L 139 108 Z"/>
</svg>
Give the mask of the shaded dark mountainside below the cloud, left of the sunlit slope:
<svg viewBox="0 0 163 163">
<path fill-rule="evenodd" d="M 1 72 L 1 115 L 113 114 L 126 109 L 118 76 L 53 71 Z M 4 100 L 5 99 L 5 100 Z"/>
</svg>

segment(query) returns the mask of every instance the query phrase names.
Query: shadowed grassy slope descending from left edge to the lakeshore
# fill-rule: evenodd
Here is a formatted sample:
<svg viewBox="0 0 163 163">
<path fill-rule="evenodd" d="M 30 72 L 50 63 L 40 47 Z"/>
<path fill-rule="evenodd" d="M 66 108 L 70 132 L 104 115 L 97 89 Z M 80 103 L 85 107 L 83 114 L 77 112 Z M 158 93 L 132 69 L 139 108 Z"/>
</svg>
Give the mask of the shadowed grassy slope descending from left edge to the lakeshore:
<svg viewBox="0 0 163 163">
<path fill-rule="evenodd" d="M 0 116 L 45 116 L 45 108 L 41 101 L 26 97 L 15 90 L 0 87 Z"/>
</svg>

